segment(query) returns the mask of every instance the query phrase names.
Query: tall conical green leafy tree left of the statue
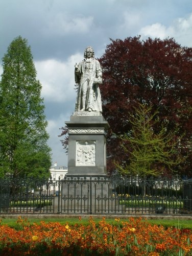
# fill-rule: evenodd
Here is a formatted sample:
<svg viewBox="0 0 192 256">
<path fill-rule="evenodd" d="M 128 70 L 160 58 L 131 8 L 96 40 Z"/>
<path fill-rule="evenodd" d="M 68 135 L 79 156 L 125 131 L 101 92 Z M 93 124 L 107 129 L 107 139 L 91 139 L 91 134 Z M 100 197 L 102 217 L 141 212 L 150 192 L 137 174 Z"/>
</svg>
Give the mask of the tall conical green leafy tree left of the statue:
<svg viewBox="0 0 192 256">
<path fill-rule="evenodd" d="M 50 176 L 51 149 L 41 84 L 26 39 L 15 38 L 3 58 L 0 82 L 0 176 Z"/>
</svg>

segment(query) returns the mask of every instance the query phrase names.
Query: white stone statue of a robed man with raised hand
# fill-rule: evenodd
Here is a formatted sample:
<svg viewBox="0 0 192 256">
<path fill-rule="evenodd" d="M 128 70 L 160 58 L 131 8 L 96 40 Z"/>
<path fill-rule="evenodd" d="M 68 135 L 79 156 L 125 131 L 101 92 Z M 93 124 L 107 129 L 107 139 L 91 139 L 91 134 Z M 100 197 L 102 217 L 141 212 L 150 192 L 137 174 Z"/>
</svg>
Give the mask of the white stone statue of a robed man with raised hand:
<svg viewBox="0 0 192 256">
<path fill-rule="evenodd" d="M 102 68 L 94 58 L 91 46 L 85 49 L 84 60 L 75 65 L 75 81 L 79 84 L 75 111 L 102 112 L 99 88 L 102 83 Z"/>
</svg>

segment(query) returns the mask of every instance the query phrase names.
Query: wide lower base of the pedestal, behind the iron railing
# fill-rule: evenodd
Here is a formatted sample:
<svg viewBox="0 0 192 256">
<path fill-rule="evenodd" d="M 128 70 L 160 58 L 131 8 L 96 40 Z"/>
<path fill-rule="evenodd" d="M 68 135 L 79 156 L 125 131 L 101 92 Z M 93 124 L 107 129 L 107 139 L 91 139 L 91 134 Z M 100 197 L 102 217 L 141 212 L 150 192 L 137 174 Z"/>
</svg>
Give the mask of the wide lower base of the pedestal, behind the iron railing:
<svg viewBox="0 0 192 256">
<path fill-rule="evenodd" d="M 69 176 L 62 180 L 62 213 L 122 214 L 113 181 L 103 176 Z"/>
</svg>

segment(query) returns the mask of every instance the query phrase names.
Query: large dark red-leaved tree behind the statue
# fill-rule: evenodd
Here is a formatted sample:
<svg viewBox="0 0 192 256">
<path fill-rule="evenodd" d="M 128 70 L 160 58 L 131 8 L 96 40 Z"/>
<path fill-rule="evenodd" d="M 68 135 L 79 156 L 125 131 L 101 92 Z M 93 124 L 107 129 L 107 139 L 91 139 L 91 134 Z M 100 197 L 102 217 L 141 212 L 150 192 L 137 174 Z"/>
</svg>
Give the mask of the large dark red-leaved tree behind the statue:
<svg viewBox="0 0 192 256">
<path fill-rule="evenodd" d="M 115 169 L 114 161 L 129 165 L 130 154 L 121 147 L 119 137 L 132 129 L 130 120 L 140 103 L 153 106 L 151 114 L 158 110 L 154 134 L 158 134 L 162 126 L 166 134 L 177 131 L 178 151 L 184 160 L 174 171 L 191 177 L 192 48 L 181 46 L 173 38 L 111 39 L 99 61 L 103 69 L 100 86 L 103 116 L 110 125 L 107 170 Z M 66 131 L 63 128 L 62 135 Z M 67 140 L 62 143 L 66 148 Z M 165 173 L 171 174 L 168 168 Z"/>
</svg>

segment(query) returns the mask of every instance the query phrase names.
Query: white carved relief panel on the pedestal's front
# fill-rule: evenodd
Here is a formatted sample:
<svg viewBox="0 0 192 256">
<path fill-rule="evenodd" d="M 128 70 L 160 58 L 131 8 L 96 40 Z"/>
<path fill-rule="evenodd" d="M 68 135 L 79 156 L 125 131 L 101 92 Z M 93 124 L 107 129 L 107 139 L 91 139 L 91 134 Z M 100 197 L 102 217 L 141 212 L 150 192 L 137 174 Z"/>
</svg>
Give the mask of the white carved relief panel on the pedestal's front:
<svg viewBox="0 0 192 256">
<path fill-rule="evenodd" d="M 76 142 L 76 166 L 95 166 L 95 142 Z"/>
</svg>

